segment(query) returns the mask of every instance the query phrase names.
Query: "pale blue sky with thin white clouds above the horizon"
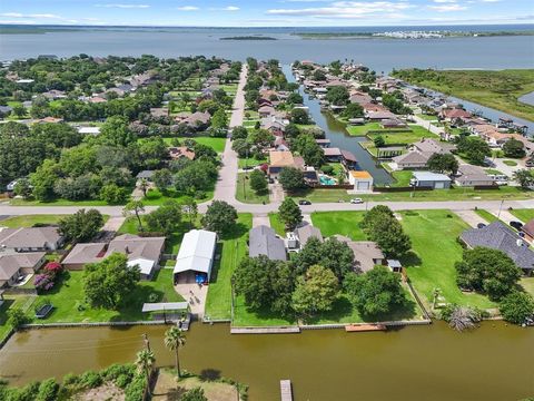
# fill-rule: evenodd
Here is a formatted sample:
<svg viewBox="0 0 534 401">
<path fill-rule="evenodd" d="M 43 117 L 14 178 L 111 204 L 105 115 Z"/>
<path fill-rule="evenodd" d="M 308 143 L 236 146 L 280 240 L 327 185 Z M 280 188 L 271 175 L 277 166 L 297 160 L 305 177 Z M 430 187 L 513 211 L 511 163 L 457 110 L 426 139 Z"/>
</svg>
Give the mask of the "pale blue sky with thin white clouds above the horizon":
<svg viewBox="0 0 534 401">
<path fill-rule="evenodd" d="M 210 27 L 532 23 L 533 0 L 2 0 L 0 23 Z"/>
</svg>

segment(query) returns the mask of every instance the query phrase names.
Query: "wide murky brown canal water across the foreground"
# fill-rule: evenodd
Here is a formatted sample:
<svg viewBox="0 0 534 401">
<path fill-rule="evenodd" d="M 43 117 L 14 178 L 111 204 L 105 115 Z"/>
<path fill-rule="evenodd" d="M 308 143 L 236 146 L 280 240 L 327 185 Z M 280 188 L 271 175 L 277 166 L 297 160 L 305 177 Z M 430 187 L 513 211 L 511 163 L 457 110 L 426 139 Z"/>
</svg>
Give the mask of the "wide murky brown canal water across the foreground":
<svg viewBox="0 0 534 401">
<path fill-rule="evenodd" d="M 13 384 L 129 362 L 147 333 L 157 365 L 171 365 L 165 326 L 48 329 L 21 332 L 0 351 L 0 376 Z M 290 379 L 295 400 L 521 400 L 534 395 L 534 330 L 485 322 L 457 333 L 443 322 L 389 332 L 314 330 L 237 335 L 227 324 L 195 323 L 182 366 L 211 370 L 250 387 L 251 401 L 279 399 Z"/>
</svg>

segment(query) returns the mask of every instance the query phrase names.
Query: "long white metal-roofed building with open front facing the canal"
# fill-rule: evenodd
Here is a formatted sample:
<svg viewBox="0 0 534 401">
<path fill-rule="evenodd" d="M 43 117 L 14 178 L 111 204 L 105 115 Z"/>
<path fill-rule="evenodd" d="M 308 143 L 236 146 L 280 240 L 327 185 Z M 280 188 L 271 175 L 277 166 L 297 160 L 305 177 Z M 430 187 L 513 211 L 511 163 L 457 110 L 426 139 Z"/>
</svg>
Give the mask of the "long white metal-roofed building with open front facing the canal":
<svg viewBox="0 0 534 401">
<path fill-rule="evenodd" d="M 208 283 L 211 277 L 217 234 L 191 229 L 184 235 L 174 268 L 175 283 Z"/>
</svg>

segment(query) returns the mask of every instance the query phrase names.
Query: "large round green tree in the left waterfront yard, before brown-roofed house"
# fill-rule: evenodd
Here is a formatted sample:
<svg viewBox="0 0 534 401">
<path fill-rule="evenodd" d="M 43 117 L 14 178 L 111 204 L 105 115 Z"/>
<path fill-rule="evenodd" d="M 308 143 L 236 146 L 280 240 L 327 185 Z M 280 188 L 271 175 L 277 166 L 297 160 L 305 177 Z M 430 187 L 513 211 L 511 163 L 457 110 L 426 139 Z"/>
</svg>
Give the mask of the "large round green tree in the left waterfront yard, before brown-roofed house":
<svg viewBox="0 0 534 401">
<path fill-rule="evenodd" d="M 128 266 L 126 255 L 113 253 L 83 271 L 83 293 L 92 307 L 117 310 L 136 290 L 139 268 Z"/>
</svg>

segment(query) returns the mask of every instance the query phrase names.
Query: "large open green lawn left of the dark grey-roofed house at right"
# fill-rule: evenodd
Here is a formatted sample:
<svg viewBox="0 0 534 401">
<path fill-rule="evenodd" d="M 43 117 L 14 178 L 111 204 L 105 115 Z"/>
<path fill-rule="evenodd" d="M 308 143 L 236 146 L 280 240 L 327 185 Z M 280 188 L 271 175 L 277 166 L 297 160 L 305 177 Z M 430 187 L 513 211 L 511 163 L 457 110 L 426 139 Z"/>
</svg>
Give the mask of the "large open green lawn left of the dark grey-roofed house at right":
<svg viewBox="0 0 534 401">
<path fill-rule="evenodd" d="M 413 211 L 400 215 L 413 247 L 413 254 L 402 262 L 423 302 L 431 305 L 434 290 L 439 288 L 449 303 L 495 306 L 486 296 L 462 293 L 456 285 L 454 264 L 462 260 L 462 246 L 456 238 L 468 228 L 466 223 L 449 211 Z"/>
</svg>

